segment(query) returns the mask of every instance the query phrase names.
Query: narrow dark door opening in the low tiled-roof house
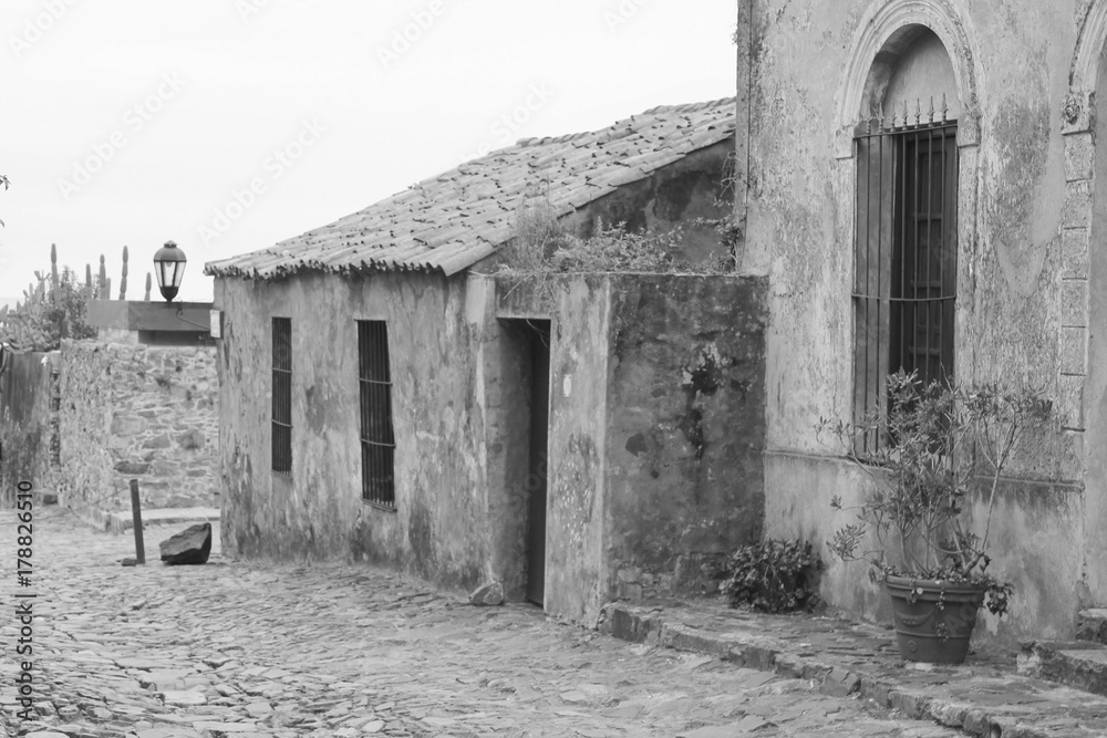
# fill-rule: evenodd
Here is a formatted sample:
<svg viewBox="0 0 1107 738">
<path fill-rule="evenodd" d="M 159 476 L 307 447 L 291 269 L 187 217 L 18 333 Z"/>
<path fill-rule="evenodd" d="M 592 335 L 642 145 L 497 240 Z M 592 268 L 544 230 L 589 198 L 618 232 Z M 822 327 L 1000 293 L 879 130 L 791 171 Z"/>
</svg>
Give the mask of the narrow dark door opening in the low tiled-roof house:
<svg viewBox="0 0 1107 738">
<path fill-rule="evenodd" d="M 530 349 L 530 449 L 527 474 L 527 600 L 545 604 L 546 479 L 549 466 L 550 323 L 526 321 Z"/>
</svg>

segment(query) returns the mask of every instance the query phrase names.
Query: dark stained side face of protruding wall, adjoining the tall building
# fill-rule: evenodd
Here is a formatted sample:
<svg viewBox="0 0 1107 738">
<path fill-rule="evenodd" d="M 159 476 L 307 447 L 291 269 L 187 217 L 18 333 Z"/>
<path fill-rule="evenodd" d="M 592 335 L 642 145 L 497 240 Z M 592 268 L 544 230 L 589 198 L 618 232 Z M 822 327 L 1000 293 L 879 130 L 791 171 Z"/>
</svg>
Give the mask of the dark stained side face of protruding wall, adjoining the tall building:
<svg viewBox="0 0 1107 738">
<path fill-rule="evenodd" d="M 710 590 L 762 531 L 764 280 L 611 279 L 607 591 Z"/>
</svg>

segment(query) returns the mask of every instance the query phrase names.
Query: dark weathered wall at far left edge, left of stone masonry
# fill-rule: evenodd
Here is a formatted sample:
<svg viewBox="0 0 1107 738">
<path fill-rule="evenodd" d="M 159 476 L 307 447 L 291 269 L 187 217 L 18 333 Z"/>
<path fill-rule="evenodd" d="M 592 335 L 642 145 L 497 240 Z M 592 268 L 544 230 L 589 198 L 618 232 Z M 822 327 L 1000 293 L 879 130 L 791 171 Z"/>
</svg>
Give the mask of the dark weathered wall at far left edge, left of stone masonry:
<svg viewBox="0 0 1107 738">
<path fill-rule="evenodd" d="M 30 481 L 54 493 L 52 445 L 56 441 L 51 371 L 58 353 L 11 354 L 0 374 L 0 501 L 14 507 L 15 486 Z"/>
</svg>

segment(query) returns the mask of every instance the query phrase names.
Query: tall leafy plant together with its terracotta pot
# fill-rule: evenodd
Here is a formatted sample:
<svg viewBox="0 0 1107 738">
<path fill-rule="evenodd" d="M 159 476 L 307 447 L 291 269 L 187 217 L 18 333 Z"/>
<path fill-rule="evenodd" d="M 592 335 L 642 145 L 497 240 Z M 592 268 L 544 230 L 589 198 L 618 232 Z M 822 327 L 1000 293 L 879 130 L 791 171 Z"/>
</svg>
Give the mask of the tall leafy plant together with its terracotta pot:
<svg viewBox="0 0 1107 738">
<path fill-rule="evenodd" d="M 820 436 L 835 438 L 875 482 L 852 508 L 856 521 L 827 545 L 844 561 L 872 564 L 892 600 L 904 659 L 960 664 L 981 604 L 1007 611 L 1012 585 L 987 571 L 996 489 L 1023 432 L 1043 423 L 1052 404 L 1033 391 L 924 384 L 903 372 L 888 377 L 887 394 L 884 412 L 819 422 Z M 980 491 L 986 512 L 973 519 Z M 845 509 L 838 497 L 831 507 Z M 866 550 L 872 540 L 877 549 Z"/>
</svg>

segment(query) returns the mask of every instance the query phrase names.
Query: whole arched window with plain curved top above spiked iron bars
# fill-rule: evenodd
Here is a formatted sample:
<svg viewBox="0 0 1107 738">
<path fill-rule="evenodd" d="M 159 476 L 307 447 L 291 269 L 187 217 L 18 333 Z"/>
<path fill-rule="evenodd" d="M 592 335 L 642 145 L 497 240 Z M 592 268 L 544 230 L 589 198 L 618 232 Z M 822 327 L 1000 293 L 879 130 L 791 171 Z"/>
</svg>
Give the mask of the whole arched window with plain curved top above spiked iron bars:
<svg viewBox="0 0 1107 738">
<path fill-rule="evenodd" d="M 922 25 L 873 61 L 853 133 L 853 404 L 880 413 L 886 377 L 953 380 L 960 103 L 949 54 Z M 879 438 L 866 438 L 871 450 Z"/>
</svg>

